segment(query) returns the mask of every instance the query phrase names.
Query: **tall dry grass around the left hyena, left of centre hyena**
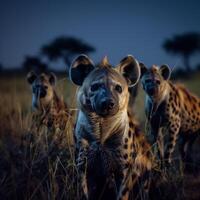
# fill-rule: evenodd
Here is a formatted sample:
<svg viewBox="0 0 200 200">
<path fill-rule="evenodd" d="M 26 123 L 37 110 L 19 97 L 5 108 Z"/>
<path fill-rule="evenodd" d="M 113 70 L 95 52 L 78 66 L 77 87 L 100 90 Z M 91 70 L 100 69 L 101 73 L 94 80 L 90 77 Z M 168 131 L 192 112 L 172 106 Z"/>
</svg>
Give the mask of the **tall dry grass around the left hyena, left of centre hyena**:
<svg viewBox="0 0 200 200">
<path fill-rule="evenodd" d="M 0 88 L 0 199 L 78 198 L 73 148 L 52 142 L 54 130 L 30 128 L 31 90 L 25 77 L 1 78 Z M 74 108 L 73 86 L 61 79 L 56 89 Z M 68 125 L 66 130 L 72 128 Z"/>
</svg>

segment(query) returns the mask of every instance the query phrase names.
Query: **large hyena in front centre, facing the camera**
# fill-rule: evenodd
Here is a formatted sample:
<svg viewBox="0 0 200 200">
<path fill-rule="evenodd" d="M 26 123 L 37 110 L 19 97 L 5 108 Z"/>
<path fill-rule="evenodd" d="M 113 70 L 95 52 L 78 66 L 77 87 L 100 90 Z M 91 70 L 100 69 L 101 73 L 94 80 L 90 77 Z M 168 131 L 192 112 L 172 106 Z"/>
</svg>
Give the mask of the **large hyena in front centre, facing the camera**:
<svg viewBox="0 0 200 200">
<path fill-rule="evenodd" d="M 80 86 L 75 137 L 84 196 L 128 199 L 152 166 L 150 146 L 128 114 L 128 87 L 139 80 L 139 64 L 127 56 L 115 68 L 107 58 L 95 66 L 81 55 L 72 63 L 70 77 Z"/>
</svg>

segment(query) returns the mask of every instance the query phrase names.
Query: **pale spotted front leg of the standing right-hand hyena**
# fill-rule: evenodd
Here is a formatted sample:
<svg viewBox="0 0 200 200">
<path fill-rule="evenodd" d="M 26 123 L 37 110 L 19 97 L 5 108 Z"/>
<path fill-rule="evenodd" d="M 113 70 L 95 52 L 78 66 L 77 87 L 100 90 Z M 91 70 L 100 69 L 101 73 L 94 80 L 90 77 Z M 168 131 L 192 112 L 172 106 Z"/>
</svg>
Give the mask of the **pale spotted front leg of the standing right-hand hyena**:
<svg viewBox="0 0 200 200">
<path fill-rule="evenodd" d="M 178 138 L 178 133 L 180 130 L 180 119 L 176 118 L 172 120 L 168 130 L 169 130 L 169 141 L 165 151 L 165 159 L 166 159 L 166 164 L 171 164 L 172 153 L 174 152 L 176 141 Z"/>
</svg>

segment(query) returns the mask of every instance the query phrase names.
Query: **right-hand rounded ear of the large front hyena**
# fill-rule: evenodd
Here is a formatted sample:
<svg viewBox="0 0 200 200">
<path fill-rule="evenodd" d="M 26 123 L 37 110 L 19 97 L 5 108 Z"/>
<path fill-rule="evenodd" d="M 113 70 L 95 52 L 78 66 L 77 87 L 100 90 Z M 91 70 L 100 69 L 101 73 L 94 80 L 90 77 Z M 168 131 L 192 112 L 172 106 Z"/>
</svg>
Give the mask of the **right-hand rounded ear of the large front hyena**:
<svg viewBox="0 0 200 200">
<path fill-rule="evenodd" d="M 121 60 L 119 70 L 125 77 L 128 86 L 132 87 L 137 84 L 140 79 L 140 66 L 138 61 L 131 55 Z"/>
</svg>

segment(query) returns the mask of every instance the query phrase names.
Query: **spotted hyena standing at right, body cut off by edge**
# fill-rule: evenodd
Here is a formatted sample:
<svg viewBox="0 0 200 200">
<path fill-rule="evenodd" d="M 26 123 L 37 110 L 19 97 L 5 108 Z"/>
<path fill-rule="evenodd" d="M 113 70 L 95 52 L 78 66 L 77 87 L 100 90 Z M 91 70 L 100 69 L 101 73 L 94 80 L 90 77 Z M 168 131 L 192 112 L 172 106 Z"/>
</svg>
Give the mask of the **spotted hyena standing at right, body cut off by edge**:
<svg viewBox="0 0 200 200">
<path fill-rule="evenodd" d="M 200 99 L 182 85 L 169 81 L 171 70 L 167 65 L 153 65 L 149 69 L 142 63 L 140 66 L 152 143 L 158 142 L 160 157 L 170 164 L 177 138 L 180 136 L 181 156 L 183 161 L 187 161 L 192 144 L 200 132 Z M 167 143 L 161 139 L 165 133 L 168 135 Z M 162 149 L 163 142 L 165 150 Z"/>
</svg>

